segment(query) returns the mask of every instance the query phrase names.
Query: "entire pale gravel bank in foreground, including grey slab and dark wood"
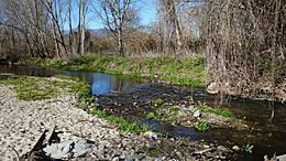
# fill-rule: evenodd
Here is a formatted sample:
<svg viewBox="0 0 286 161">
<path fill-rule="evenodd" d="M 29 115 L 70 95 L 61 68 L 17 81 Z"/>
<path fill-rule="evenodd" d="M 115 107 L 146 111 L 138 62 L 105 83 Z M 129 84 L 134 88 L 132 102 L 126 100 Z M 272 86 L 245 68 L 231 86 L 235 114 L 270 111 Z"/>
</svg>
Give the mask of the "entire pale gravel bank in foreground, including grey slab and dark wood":
<svg viewBox="0 0 286 161">
<path fill-rule="evenodd" d="M 0 160 L 4 161 L 221 160 L 231 152 L 220 144 L 121 132 L 103 118 L 79 109 L 74 94 L 20 100 L 12 85 L 3 84 L 0 126 Z"/>
</svg>

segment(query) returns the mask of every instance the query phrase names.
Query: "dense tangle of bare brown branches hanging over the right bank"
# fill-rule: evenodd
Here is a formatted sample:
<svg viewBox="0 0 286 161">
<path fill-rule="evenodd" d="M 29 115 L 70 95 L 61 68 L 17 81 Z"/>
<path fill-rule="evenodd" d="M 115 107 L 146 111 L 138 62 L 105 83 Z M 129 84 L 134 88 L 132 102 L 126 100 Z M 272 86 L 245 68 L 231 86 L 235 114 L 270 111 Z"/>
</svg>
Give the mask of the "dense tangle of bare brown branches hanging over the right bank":
<svg viewBox="0 0 286 161">
<path fill-rule="evenodd" d="M 221 93 L 285 98 L 283 6 L 283 0 L 209 0 L 198 8 L 208 80 Z"/>
</svg>

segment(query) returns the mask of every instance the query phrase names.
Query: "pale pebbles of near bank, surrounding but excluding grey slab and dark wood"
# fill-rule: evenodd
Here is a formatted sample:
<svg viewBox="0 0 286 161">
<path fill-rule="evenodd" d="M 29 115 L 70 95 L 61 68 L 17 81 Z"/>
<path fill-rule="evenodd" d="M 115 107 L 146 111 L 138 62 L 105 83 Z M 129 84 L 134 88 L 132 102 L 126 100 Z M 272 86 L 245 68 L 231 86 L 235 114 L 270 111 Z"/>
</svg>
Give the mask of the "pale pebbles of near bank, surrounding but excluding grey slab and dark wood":
<svg viewBox="0 0 286 161">
<path fill-rule="evenodd" d="M 0 160 L 9 161 L 28 153 L 41 135 L 56 126 L 61 142 L 74 137 L 95 141 L 89 159 L 141 158 L 140 146 L 150 146 L 144 137 L 122 135 L 103 119 L 76 107 L 74 96 L 22 101 L 6 85 L 0 85 Z M 16 151 L 16 152 L 15 152 Z"/>
</svg>

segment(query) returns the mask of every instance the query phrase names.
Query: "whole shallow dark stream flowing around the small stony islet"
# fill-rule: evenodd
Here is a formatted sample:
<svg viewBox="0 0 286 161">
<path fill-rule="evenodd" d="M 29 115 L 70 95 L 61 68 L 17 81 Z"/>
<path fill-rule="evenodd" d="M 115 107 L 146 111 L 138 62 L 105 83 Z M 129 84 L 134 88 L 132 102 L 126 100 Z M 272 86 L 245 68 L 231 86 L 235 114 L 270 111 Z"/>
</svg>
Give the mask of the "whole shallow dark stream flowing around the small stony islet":
<svg viewBox="0 0 286 161">
<path fill-rule="evenodd" d="M 29 76 L 53 76 L 57 74 L 78 77 L 91 86 L 91 94 L 97 101 L 106 104 L 102 107 L 118 108 L 118 114 L 140 118 L 141 124 L 150 125 L 153 130 L 188 138 L 240 147 L 248 142 L 254 144 L 253 153 L 241 153 L 235 160 L 263 160 L 264 154 L 286 153 L 286 105 L 280 103 L 242 99 L 228 96 L 208 95 L 204 88 L 179 87 L 153 84 L 150 80 L 139 80 L 102 73 L 75 73 L 47 69 L 32 66 L 0 66 L 0 73 L 13 73 Z M 193 128 L 172 126 L 155 120 L 142 119 L 146 107 L 153 97 L 164 97 L 172 101 L 185 101 L 191 96 L 195 101 L 207 103 L 212 107 L 224 107 L 232 110 L 235 117 L 244 119 L 257 130 L 241 131 L 235 129 L 211 129 L 200 133 Z M 114 103 L 116 100 L 116 103 Z M 132 108 L 128 108 L 131 107 Z"/>
</svg>

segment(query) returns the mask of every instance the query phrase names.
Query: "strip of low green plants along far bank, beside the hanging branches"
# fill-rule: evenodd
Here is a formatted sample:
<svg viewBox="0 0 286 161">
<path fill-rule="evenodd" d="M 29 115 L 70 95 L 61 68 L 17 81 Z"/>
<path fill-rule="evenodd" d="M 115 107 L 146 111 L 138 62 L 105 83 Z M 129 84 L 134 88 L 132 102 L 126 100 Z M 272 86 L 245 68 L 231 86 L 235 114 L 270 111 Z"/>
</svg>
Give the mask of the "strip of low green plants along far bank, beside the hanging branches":
<svg viewBox="0 0 286 161">
<path fill-rule="evenodd" d="M 75 72 L 101 72 L 151 77 L 178 85 L 204 86 L 206 79 L 204 57 L 148 57 L 84 55 L 61 60 L 33 60 L 34 64 Z"/>
</svg>

